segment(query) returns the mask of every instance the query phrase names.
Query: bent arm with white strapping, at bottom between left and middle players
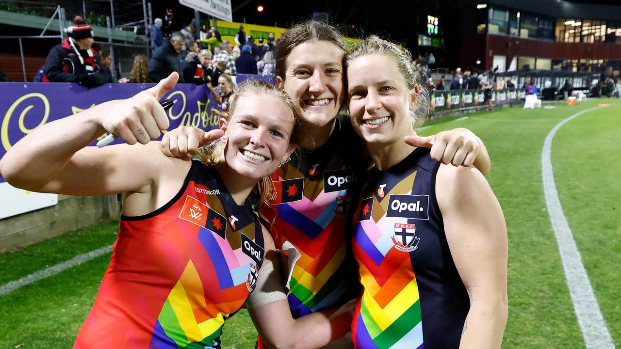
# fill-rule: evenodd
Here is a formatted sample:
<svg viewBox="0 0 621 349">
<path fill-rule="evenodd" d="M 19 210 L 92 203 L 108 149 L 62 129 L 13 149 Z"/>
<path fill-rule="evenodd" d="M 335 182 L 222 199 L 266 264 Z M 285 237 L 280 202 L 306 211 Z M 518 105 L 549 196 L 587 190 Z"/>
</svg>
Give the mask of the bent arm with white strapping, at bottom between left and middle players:
<svg viewBox="0 0 621 349">
<path fill-rule="evenodd" d="M 263 235 L 266 260 L 247 305 L 248 313 L 267 347 L 320 348 L 349 332 L 354 301 L 293 319 L 281 279 L 278 253 L 265 228 Z"/>
</svg>

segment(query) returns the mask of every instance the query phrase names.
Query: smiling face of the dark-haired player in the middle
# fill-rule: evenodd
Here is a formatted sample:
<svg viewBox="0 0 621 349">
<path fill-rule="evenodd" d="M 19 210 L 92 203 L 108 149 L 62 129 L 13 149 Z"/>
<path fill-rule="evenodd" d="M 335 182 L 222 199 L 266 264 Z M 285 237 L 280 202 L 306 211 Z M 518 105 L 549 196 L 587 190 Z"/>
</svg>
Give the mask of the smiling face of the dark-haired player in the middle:
<svg viewBox="0 0 621 349">
<path fill-rule="evenodd" d="M 279 85 L 299 107 L 304 122 L 324 126 L 343 106 L 343 50 L 334 43 L 311 40 L 286 58 Z"/>
</svg>

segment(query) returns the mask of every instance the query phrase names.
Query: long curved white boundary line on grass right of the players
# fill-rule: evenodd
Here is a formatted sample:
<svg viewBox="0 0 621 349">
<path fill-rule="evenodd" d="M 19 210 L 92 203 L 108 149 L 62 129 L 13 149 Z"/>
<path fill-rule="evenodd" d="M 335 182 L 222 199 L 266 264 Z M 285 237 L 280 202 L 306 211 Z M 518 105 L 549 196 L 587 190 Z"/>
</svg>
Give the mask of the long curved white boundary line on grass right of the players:
<svg viewBox="0 0 621 349">
<path fill-rule="evenodd" d="M 563 214 L 563 207 L 561 207 L 561 201 L 558 199 L 558 193 L 556 193 L 550 157 L 552 138 L 556 134 L 556 131 L 569 120 L 595 109 L 599 109 L 599 107 L 578 112 L 561 121 L 550 131 L 543 143 L 542 176 L 548 214 L 550 214 L 550 221 L 556 236 L 556 243 L 558 243 L 561 261 L 563 262 L 565 279 L 569 287 L 569 295 L 574 303 L 574 310 L 576 312 L 576 317 L 578 317 L 578 324 L 582 330 L 584 343 L 587 349 L 608 349 L 614 348 L 615 345 L 606 327 L 604 316 L 599 309 L 599 304 L 597 304 L 597 299 L 591 287 L 591 283 L 589 282 L 589 276 L 584 269 L 584 265 L 582 265 L 580 252 L 571 234 L 571 229 L 569 229 L 569 224 Z"/>
</svg>

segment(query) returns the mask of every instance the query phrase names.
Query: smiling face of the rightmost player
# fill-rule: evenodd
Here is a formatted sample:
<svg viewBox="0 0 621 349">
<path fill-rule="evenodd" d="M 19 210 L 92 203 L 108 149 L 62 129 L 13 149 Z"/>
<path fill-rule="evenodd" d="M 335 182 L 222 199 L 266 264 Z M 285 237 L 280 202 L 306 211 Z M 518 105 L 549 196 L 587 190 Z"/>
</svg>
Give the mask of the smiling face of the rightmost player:
<svg viewBox="0 0 621 349">
<path fill-rule="evenodd" d="M 416 97 L 388 55 L 364 55 L 347 69 L 351 125 L 371 148 L 404 143 L 414 134 L 410 113 Z M 405 144 L 405 143 L 404 143 Z"/>
</svg>

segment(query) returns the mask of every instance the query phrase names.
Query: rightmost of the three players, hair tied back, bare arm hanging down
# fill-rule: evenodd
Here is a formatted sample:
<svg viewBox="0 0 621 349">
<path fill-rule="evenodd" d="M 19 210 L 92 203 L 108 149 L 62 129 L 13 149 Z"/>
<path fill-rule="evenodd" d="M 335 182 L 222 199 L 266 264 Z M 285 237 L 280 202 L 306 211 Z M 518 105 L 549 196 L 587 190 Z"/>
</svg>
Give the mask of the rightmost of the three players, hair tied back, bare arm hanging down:
<svg viewBox="0 0 621 349">
<path fill-rule="evenodd" d="M 500 348 L 504 215 L 479 170 L 443 165 L 404 142 L 422 123 L 423 87 L 411 62 L 407 50 L 374 35 L 345 57 L 351 126 L 374 163 L 354 215 L 362 288 L 354 347 Z"/>
</svg>

